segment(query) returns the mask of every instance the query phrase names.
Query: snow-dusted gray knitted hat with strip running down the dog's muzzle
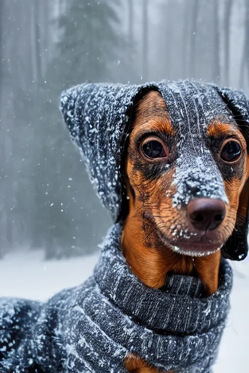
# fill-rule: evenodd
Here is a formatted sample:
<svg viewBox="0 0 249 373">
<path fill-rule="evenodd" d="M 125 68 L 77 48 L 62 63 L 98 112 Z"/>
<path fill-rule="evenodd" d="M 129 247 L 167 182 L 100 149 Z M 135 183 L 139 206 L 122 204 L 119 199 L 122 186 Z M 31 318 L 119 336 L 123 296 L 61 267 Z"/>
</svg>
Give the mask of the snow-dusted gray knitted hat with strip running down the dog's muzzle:
<svg viewBox="0 0 249 373">
<path fill-rule="evenodd" d="M 194 81 L 77 85 L 62 93 L 60 109 L 86 162 L 90 180 L 113 220 L 125 218 L 123 155 L 132 108 L 149 90 L 161 93 L 172 125 L 178 131 L 178 158 L 174 165 L 178 190 L 172 203 L 180 206 L 194 197 L 227 202 L 220 172 L 200 133 L 219 116 L 228 121 L 235 118 L 248 139 L 249 101 L 244 93 Z M 246 220 L 236 222 L 231 238 L 222 248 L 225 257 L 234 260 L 246 257 L 248 221 L 247 216 Z"/>
</svg>

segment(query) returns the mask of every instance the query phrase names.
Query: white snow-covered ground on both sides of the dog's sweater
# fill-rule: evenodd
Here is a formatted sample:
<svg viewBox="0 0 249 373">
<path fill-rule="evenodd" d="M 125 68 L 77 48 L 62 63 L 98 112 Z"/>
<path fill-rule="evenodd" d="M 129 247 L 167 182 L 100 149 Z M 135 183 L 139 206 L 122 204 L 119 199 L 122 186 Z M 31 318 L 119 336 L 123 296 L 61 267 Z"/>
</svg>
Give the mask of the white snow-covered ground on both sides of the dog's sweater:
<svg viewBox="0 0 249 373">
<path fill-rule="evenodd" d="M 0 260 L 0 296 L 46 300 L 83 282 L 97 257 L 44 261 L 41 251 L 9 254 Z M 231 313 L 214 373 L 249 372 L 249 260 L 232 265 Z"/>
</svg>

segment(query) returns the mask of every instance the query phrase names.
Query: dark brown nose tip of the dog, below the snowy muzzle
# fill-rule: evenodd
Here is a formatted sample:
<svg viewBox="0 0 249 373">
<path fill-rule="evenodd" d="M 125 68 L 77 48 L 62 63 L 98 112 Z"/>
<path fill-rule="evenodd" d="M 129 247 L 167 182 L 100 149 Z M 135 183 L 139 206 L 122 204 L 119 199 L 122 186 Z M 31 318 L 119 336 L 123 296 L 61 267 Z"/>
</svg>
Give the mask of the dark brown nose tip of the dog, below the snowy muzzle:
<svg viewBox="0 0 249 373">
<path fill-rule="evenodd" d="M 195 198 L 187 205 L 188 218 L 196 229 L 212 230 L 224 220 L 226 205 L 221 200 Z"/>
</svg>

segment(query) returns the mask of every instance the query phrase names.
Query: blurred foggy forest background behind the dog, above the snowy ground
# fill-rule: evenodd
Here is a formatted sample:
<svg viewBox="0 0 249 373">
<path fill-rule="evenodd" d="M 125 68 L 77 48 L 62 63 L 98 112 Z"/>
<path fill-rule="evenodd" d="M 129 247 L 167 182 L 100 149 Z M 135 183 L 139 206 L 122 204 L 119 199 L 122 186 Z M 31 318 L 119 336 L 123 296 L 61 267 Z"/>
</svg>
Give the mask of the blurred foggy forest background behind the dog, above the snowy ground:
<svg viewBox="0 0 249 373">
<path fill-rule="evenodd" d="M 87 254 L 111 224 L 58 110 L 83 82 L 249 91 L 249 0 L 0 0 L 0 255 Z"/>
</svg>

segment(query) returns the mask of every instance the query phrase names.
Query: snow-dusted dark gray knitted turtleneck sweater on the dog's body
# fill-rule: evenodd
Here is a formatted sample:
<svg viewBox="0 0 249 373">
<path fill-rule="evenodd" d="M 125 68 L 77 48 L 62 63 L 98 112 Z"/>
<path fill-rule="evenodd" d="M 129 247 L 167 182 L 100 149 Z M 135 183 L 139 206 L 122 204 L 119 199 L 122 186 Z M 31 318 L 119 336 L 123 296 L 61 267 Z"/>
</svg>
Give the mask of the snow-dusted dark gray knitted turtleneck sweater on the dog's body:
<svg viewBox="0 0 249 373">
<path fill-rule="evenodd" d="M 219 288 L 202 295 L 191 276 L 171 275 L 151 289 L 131 273 L 114 225 L 84 284 L 47 303 L 0 300 L 1 373 L 125 373 L 129 352 L 176 373 L 209 373 L 226 322 L 231 268 L 222 261 Z"/>
</svg>

